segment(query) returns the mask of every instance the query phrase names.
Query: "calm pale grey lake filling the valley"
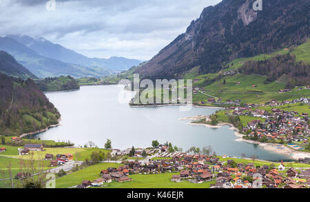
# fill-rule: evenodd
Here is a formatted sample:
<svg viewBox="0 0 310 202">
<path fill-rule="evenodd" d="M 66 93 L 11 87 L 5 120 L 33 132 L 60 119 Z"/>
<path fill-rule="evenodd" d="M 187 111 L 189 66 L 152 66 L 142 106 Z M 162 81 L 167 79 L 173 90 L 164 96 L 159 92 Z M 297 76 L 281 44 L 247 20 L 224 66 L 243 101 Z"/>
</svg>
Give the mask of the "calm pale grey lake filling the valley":
<svg viewBox="0 0 310 202">
<path fill-rule="evenodd" d="M 171 142 L 184 151 L 192 146 L 211 145 L 218 155 L 241 156 L 244 153 L 247 157 L 255 154 L 259 159 L 269 161 L 289 159 L 258 145 L 235 141 L 237 137 L 229 126 L 212 129 L 178 120 L 212 114 L 216 112 L 214 108 L 192 108 L 187 112 L 181 112 L 179 106 L 131 108 L 118 101 L 120 92 L 127 96 L 126 100 L 132 96 L 132 92 L 123 90 L 120 85 L 81 86 L 78 91 L 46 93 L 61 112 L 61 125 L 37 134 L 35 138 L 69 140 L 76 146 L 92 141 L 101 148 L 107 139 L 111 139 L 112 148 L 117 149 L 147 148 L 153 140 L 158 140 L 160 143 Z"/>
</svg>

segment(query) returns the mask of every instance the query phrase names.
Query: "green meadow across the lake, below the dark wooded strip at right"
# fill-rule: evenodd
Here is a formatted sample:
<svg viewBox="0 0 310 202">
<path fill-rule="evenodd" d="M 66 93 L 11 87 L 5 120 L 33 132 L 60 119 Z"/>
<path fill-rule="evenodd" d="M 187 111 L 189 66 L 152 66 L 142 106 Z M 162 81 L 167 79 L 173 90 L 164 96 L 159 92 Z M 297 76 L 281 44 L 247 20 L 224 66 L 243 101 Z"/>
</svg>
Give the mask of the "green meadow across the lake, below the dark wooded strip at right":
<svg viewBox="0 0 310 202">
<path fill-rule="evenodd" d="M 224 79 L 226 84 L 224 84 Z M 222 98 L 223 101 L 240 99 L 242 103 L 265 103 L 271 99 L 284 101 L 310 96 L 310 90 L 298 90 L 298 88 L 279 94 L 278 90 L 285 89 L 285 84 L 276 81 L 265 84 L 265 80 L 266 77 L 261 75 L 236 74 L 215 81 L 211 85 L 205 86 L 204 89 L 206 94 Z M 240 84 L 237 84 L 238 82 Z M 256 85 L 256 88 L 252 88 L 252 85 Z M 194 101 L 207 101 L 209 98 L 204 94 L 194 94 Z"/>
</svg>

